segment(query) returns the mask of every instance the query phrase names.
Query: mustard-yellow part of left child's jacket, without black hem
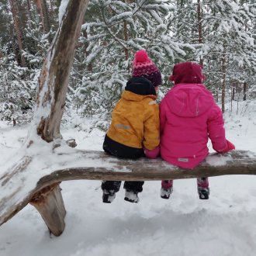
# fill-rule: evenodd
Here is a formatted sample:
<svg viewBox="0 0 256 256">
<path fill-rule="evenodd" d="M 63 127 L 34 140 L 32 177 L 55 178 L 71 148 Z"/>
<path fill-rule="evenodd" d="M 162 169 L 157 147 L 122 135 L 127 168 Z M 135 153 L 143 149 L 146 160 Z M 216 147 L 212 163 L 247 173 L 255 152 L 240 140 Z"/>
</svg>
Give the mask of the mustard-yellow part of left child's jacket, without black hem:
<svg viewBox="0 0 256 256">
<path fill-rule="evenodd" d="M 155 95 L 124 91 L 112 111 L 107 136 L 119 144 L 153 150 L 160 143 L 159 108 Z"/>
</svg>

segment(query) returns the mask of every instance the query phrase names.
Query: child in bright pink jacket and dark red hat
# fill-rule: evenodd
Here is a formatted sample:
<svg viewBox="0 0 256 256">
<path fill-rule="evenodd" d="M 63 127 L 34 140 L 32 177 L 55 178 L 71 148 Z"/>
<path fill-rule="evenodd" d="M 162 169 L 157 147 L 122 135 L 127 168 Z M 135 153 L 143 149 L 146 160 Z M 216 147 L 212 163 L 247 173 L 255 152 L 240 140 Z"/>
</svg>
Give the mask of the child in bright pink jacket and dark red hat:
<svg viewBox="0 0 256 256">
<path fill-rule="evenodd" d="M 225 137 L 223 114 L 204 78 L 199 64 L 176 64 L 170 77 L 175 85 L 161 101 L 161 157 L 181 168 L 195 168 L 207 157 L 208 138 L 219 153 L 235 148 Z M 161 198 L 169 199 L 172 183 L 161 182 Z M 197 186 L 199 199 L 209 199 L 208 178 L 198 178 Z"/>
</svg>

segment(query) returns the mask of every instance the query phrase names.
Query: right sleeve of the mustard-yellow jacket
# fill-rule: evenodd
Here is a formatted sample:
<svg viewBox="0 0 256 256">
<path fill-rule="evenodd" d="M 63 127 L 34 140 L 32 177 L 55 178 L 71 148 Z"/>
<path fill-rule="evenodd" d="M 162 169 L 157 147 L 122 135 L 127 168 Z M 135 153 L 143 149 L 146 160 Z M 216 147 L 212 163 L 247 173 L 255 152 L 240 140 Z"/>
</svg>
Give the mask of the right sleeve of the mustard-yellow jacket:
<svg viewBox="0 0 256 256">
<path fill-rule="evenodd" d="M 144 147 L 154 150 L 160 144 L 159 136 L 159 106 L 157 103 L 148 105 L 144 119 Z"/>
</svg>

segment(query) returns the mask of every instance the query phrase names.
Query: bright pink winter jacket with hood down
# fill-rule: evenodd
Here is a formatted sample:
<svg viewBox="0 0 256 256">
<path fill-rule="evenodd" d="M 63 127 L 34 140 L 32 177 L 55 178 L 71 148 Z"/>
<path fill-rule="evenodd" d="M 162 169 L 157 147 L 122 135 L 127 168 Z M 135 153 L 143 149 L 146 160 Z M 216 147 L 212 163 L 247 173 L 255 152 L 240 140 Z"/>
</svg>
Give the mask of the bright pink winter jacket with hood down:
<svg viewBox="0 0 256 256">
<path fill-rule="evenodd" d="M 178 84 L 160 105 L 161 157 L 182 168 L 195 168 L 213 149 L 227 147 L 223 114 L 202 84 Z"/>
</svg>

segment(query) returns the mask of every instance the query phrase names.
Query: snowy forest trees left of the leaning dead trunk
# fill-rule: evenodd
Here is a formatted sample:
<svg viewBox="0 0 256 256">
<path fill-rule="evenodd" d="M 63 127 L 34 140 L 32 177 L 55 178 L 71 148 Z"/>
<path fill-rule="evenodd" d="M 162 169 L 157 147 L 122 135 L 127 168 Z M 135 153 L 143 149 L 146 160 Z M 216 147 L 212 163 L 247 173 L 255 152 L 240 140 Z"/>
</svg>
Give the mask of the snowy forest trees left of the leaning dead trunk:
<svg viewBox="0 0 256 256">
<path fill-rule="evenodd" d="M 0 6 L 0 119 L 13 124 L 31 119 L 38 75 L 57 24 L 56 5 L 43 3 L 44 12 L 54 13 L 47 20 L 55 20 L 47 33 L 35 2 L 3 0 Z"/>
</svg>

